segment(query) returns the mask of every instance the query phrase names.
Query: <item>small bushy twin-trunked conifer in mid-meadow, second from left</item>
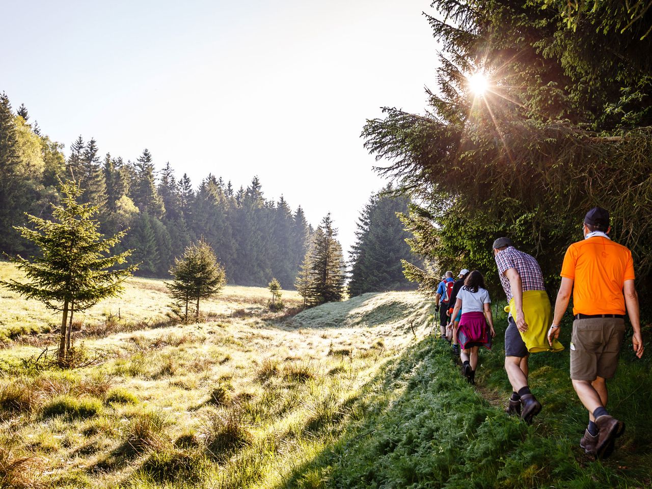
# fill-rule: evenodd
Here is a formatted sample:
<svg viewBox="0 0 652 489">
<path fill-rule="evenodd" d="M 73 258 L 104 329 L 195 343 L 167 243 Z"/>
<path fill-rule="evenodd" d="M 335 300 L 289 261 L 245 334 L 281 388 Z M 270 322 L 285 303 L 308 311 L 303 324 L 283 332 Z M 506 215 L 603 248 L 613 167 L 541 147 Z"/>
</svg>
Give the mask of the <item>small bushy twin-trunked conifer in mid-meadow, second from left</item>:
<svg viewBox="0 0 652 489">
<path fill-rule="evenodd" d="M 181 258 L 175 258 L 170 269 L 173 281 L 167 283 L 168 291 L 175 301 L 173 311 L 181 316 L 183 310 L 188 321 L 188 304 L 195 303 L 195 321 L 200 319 L 200 299 L 214 297 L 226 284 L 224 268 L 217 261 L 215 252 L 208 243 L 201 240 L 186 248 Z"/>
</svg>

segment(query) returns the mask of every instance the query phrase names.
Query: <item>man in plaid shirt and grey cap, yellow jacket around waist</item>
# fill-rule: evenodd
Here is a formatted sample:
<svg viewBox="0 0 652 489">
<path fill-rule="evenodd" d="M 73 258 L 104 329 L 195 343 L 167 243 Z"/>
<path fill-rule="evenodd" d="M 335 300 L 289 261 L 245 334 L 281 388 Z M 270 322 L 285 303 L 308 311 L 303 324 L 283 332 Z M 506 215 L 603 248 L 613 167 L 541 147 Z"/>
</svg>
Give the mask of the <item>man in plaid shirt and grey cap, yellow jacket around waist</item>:
<svg viewBox="0 0 652 489">
<path fill-rule="evenodd" d="M 528 348 L 524 341 L 523 333 L 532 326 L 526 322 L 524 302 L 527 303 L 528 319 L 536 323 L 535 328 L 545 332 L 548 323 L 543 321 L 551 314 L 550 300 L 541 267 L 535 258 L 514 248 L 509 238 L 496 239 L 493 248 L 500 282 L 510 303 L 509 325 L 505 330 L 505 370 L 513 392 L 506 411 L 520 415 L 529 423 L 541 411 L 541 403 L 527 385 L 527 359 L 530 351 L 544 349 Z M 532 333 L 530 331 L 530 336 Z"/>
</svg>

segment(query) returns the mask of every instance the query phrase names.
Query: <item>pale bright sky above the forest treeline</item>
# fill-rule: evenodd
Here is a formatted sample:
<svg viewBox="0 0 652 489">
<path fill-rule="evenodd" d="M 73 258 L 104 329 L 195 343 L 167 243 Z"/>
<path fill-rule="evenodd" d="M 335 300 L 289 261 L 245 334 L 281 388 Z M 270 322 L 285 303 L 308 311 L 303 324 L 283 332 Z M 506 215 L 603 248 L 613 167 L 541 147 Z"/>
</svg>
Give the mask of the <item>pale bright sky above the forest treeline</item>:
<svg viewBox="0 0 652 489">
<path fill-rule="evenodd" d="M 209 172 L 314 225 L 348 251 L 385 184 L 359 138 L 380 106 L 422 112 L 434 88 L 429 0 L 3 2 L 0 90 L 53 140 L 147 147 L 194 185 Z"/>
</svg>

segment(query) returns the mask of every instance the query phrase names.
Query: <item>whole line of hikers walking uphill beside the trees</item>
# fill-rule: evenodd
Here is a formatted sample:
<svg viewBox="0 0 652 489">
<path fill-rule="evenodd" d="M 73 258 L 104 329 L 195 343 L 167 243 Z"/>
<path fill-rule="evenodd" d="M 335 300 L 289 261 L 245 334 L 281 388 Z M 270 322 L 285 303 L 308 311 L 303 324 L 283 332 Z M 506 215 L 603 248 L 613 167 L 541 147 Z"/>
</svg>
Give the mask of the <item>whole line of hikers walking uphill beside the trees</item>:
<svg viewBox="0 0 652 489">
<path fill-rule="evenodd" d="M 584 239 L 566 251 L 561 285 L 554 307 L 548 299 L 537 260 L 514 247 L 507 237 L 492 246 L 498 274 L 509 306 L 505 311 L 505 371 L 512 395 L 505 411 L 527 423 L 541 411 L 541 403 L 527 384 L 530 353 L 561 351 L 559 331 L 569 301 L 573 301 L 571 333 L 572 386 L 588 411 L 589 424 L 580 447 L 596 458 L 614 451 L 615 439 L 625 430 L 623 422 L 606 410 L 606 380 L 613 378 L 625 336 L 625 314 L 632 325 L 632 346 L 643 355 L 638 295 L 634 288 L 634 261 L 629 249 L 614 243 L 608 211 L 591 209 L 582 223 Z M 437 287 L 441 337 L 460 355 L 462 374 L 475 383 L 481 346 L 491 348 L 496 335 L 491 299 L 482 274 L 462 269 L 458 280 L 447 271 Z"/>
</svg>

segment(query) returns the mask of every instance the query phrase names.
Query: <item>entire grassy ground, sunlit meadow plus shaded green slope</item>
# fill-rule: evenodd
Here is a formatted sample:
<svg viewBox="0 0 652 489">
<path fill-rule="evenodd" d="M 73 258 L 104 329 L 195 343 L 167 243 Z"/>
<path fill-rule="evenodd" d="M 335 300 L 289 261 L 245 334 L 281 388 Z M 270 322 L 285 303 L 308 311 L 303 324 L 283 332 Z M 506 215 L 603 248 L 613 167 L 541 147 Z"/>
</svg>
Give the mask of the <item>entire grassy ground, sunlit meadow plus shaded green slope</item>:
<svg viewBox="0 0 652 489">
<path fill-rule="evenodd" d="M 17 272 L 0 263 L 0 276 Z M 412 292 L 294 314 L 268 312 L 267 289 L 226 287 L 202 304 L 205 322 L 180 325 L 166 317 L 163 282 L 133 278 L 121 299 L 76 317 L 76 344 L 92 362 L 70 370 L 36 360 L 53 346 L 57 318 L 0 297 L 0 487 L 652 484 L 650 361 L 629 345 L 610 391 L 627 432 L 612 458 L 594 462 L 578 447 L 585 413 L 567 351 L 532 359 L 544 404 L 533 425 L 503 413 L 502 312 L 472 387 L 428 334 L 431 303 Z M 283 300 L 301 303 L 291 291 Z"/>
</svg>

